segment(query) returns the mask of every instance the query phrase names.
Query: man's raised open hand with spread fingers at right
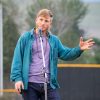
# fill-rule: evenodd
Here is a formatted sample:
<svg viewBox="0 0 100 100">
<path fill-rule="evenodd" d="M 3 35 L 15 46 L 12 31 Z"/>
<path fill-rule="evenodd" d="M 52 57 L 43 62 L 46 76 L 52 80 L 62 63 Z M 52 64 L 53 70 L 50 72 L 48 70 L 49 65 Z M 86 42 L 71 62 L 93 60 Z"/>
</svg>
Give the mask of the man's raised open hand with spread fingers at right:
<svg viewBox="0 0 100 100">
<path fill-rule="evenodd" d="M 80 37 L 79 46 L 81 50 L 89 50 L 94 45 L 93 39 L 88 39 L 86 41 L 83 41 L 83 37 Z"/>
</svg>

